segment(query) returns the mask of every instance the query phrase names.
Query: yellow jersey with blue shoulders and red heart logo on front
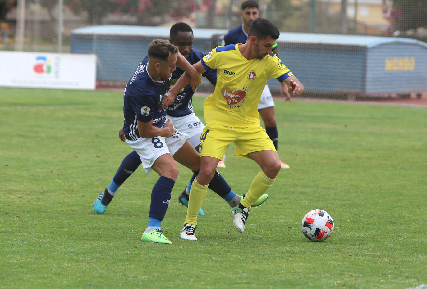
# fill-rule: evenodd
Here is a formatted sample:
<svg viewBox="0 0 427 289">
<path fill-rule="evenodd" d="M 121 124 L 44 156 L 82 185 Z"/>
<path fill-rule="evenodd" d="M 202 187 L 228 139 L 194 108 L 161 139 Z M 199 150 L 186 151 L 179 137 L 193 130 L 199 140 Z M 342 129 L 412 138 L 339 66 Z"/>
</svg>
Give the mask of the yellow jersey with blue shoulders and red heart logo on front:
<svg viewBox="0 0 427 289">
<path fill-rule="evenodd" d="M 267 80 L 283 81 L 292 75 L 274 53 L 248 60 L 238 45 L 242 44 L 218 46 L 201 60 L 206 70 L 216 68 L 215 91 L 203 104 L 206 123 L 229 127 L 260 125 L 258 103 Z"/>
</svg>

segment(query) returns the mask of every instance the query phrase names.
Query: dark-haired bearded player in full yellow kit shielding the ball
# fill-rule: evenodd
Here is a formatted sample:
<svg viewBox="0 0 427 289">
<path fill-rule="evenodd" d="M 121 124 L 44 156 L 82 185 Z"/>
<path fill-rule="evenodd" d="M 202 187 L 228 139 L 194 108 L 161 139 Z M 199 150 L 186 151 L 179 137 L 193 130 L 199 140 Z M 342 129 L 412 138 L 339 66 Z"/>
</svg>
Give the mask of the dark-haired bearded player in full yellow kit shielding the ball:
<svg viewBox="0 0 427 289">
<path fill-rule="evenodd" d="M 272 140 L 260 125 L 258 103 L 269 78 L 285 81 L 288 91 L 301 95 L 304 86 L 295 75 L 272 53 L 279 38 L 277 27 L 265 18 L 257 18 L 249 26 L 246 43 L 218 46 L 193 66 L 200 72 L 216 68 L 216 86 L 204 102 L 206 126 L 200 137 L 200 171 L 191 186 L 187 218 L 181 238 L 197 240 L 194 231 L 197 214 L 206 197 L 208 184 L 216 165 L 227 146 L 234 142 L 235 156 L 253 159 L 261 171 L 255 176 L 243 201 L 232 211 L 234 226 L 245 230 L 252 204 L 274 182 L 281 169 L 280 159 Z M 184 74 L 165 95 L 168 105 L 190 78 Z"/>
</svg>

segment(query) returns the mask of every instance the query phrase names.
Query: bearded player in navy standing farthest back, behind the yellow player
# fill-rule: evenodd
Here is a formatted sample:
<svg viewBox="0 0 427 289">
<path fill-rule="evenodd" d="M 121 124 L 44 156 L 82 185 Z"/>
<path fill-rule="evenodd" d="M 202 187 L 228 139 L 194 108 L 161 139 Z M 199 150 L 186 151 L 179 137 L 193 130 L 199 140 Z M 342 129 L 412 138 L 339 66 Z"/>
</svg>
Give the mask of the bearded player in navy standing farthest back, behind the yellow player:
<svg viewBox="0 0 427 289">
<path fill-rule="evenodd" d="M 222 40 L 222 45 L 234 44 L 234 43 L 245 43 L 248 38 L 249 25 L 260 16 L 258 11 L 258 3 L 255 0 L 246 0 L 242 3 L 242 11 L 240 12 L 240 17 L 242 17 L 243 24 L 239 25 L 233 29 L 230 29 L 224 39 Z M 277 42 L 272 47 L 273 53 L 278 55 Z M 290 101 L 290 94 L 287 90 L 287 86 L 284 82 L 281 82 L 280 92 L 282 97 L 286 101 Z M 274 146 L 277 150 L 278 147 L 278 130 L 276 125 L 276 118 L 274 116 L 274 101 L 273 96 L 269 90 L 268 85 L 264 87 L 264 90 L 261 94 L 260 103 L 258 104 L 258 112 L 260 113 L 261 118 L 264 121 L 266 126 L 266 133 L 272 139 Z M 281 162 L 281 168 L 289 168 L 289 165 Z M 225 167 L 224 161 L 220 161 L 218 164 L 219 168 Z"/>
</svg>

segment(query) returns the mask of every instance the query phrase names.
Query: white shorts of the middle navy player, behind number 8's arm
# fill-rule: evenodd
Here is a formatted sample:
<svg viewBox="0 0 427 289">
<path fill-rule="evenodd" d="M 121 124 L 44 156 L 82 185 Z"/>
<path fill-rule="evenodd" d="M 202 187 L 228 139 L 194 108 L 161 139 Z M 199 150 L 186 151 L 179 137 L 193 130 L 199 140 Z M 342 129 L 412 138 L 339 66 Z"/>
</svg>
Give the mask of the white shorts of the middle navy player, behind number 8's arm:
<svg viewBox="0 0 427 289">
<path fill-rule="evenodd" d="M 166 117 L 172 120 L 173 126 L 177 130 L 188 135 L 187 140 L 193 147 L 200 145 L 200 135 L 205 125 L 194 113 L 190 113 L 187 116 L 174 117 L 166 115 Z"/>
</svg>

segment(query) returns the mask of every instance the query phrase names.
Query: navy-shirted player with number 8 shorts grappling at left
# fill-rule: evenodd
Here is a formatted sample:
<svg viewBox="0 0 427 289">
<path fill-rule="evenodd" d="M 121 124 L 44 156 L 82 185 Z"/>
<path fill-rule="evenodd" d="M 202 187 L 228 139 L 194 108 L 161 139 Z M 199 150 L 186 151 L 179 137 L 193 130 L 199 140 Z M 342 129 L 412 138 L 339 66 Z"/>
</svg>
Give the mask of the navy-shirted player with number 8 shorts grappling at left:
<svg viewBox="0 0 427 289">
<path fill-rule="evenodd" d="M 141 241 L 172 244 L 164 235 L 166 231 L 162 231 L 161 221 L 178 177 L 175 160 L 193 171 L 200 168 L 199 154 L 187 141 L 188 135 L 175 129 L 162 107 L 177 63 L 190 71 L 175 45 L 153 40 L 148 56 L 135 69 L 123 94 L 126 142 L 137 152 L 146 173 L 155 171 L 160 176 L 152 188 L 148 227 Z M 104 196 L 100 198 L 101 203 Z"/>
</svg>

